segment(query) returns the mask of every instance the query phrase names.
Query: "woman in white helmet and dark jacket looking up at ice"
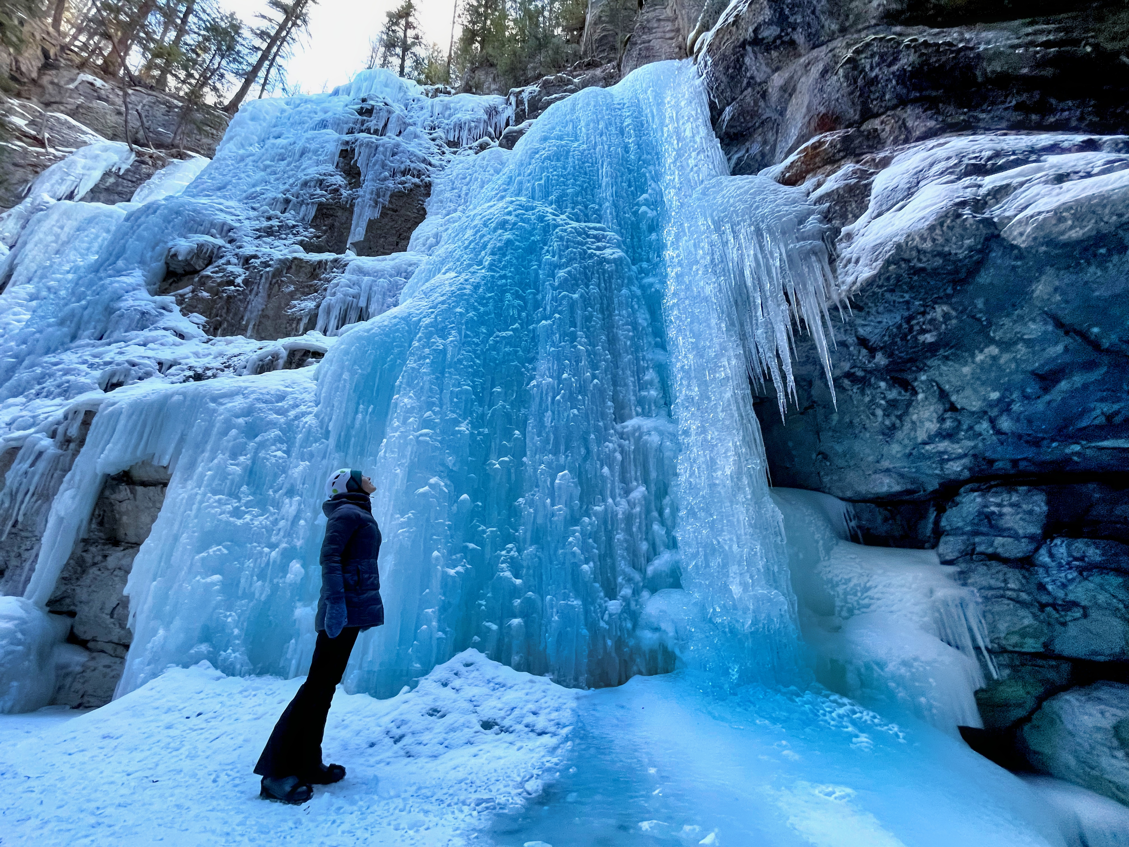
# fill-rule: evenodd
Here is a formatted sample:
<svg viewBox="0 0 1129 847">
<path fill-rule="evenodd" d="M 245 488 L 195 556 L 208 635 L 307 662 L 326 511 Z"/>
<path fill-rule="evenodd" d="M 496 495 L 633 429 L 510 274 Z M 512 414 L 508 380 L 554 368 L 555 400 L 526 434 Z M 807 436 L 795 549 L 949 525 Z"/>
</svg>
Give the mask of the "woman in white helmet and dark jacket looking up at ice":
<svg viewBox="0 0 1129 847">
<path fill-rule="evenodd" d="M 255 772 L 260 796 L 305 803 L 314 785 L 344 779 L 340 765 L 322 763 L 322 735 L 333 691 L 349 664 L 357 636 L 384 623 L 380 600 L 380 527 L 369 495 L 376 486 L 360 471 L 343 468 L 325 484 L 327 519 L 322 542 L 322 594 L 317 601 L 317 644 L 309 674 L 274 725 Z"/>
</svg>

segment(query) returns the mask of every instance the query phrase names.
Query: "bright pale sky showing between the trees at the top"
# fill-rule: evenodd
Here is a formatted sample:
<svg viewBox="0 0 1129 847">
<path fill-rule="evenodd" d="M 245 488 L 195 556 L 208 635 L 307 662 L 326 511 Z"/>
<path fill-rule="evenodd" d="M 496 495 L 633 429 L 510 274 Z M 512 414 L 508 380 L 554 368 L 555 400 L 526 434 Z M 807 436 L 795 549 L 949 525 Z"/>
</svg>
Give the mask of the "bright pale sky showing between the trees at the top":
<svg viewBox="0 0 1129 847">
<path fill-rule="evenodd" d="M 248 24 L 266 8 L 264 0 L 220 0 Z M 306 94 L 318 94 L 349 79 L 365 67 L 368 42 L 384 26 L 385 12 L 399 0 L 320 0 L 309 15 L 309 34 L 287 63 L 287 79 Z M 444 50 L 450 42 L 453 0 L 417 0 L 423 37 Z M 257 93 L 257 89 L 255 89 Z"/>
</svg>

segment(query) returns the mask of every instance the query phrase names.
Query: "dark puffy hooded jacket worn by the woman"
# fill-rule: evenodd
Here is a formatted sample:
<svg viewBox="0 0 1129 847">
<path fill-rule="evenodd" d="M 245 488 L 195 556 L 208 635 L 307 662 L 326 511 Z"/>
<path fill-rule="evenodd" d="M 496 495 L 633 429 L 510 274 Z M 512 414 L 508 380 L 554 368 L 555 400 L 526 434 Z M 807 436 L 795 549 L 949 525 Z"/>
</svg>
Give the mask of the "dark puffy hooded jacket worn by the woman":
<svg viewBox="0 0 1129 847">
<path fill-rule="evenodd" d="M 322 504 L 329 521 L 322 542 L 322 595 L 314 626 L 325 629 L 325 604 L 344 600 L 347 627 L 378 627 L 384 623 L 380 600 L 380 527 L 373 517 L 368 495 L 360 491 L 334 495 Z"/>
</svg>

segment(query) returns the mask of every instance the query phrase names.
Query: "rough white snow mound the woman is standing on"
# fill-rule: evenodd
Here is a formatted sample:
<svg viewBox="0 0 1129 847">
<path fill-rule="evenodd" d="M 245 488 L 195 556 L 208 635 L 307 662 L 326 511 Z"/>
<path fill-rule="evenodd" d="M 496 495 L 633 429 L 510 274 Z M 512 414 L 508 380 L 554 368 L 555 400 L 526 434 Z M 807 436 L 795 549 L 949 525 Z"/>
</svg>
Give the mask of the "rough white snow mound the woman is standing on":
<svg viewBox="0 0 1129 847">
<path fill-rule="evenodd" d="M 323 749 L 349 774 L 291 809 L 251 769 L 301 682 L 202 662 L 40 736 L 0 724 L 5 841 L 460 845 L 540 794 L 575 723 L 575 691 L 469 649 L 387 700 L 339 691 Z"/>
</svg>

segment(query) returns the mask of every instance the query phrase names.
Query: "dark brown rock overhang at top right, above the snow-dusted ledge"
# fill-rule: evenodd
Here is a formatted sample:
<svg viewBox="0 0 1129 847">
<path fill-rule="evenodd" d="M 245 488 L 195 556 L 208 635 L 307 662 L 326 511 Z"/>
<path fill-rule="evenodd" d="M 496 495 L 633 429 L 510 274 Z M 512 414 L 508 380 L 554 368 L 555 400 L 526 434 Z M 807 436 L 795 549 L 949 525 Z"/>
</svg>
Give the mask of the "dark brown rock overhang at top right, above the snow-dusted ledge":
<svg viewBox="0 0 1129 847">
<path fill-rule="evenodd" d="M 719 25 L 699 56 L 734 173 L 847 128 L 873 133 L 876 150 L 945 132 L 1126 125 L 1122 5 L 1023 21 L 930 11 L 943 6 L 764 1 Z M 904 26 L 962 17 L 945 29 Z"/>
</svg>

